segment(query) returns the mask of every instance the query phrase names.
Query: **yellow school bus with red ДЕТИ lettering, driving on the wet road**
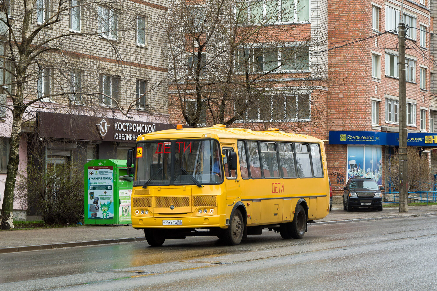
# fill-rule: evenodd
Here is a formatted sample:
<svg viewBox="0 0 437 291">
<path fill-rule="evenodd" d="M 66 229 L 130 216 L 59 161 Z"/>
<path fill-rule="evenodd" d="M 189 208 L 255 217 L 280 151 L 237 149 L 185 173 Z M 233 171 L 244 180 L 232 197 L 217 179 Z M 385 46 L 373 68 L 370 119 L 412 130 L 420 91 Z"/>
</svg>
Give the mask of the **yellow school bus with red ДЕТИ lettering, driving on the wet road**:
<svg viewBox="0 0 437 291">
<path fill-rule="evenodd" d="M 307 222 L 329 212 L 325 148 L 315 137 L 178 125 L 139 136 L 135 154 L 132 226 L 151 246 L 186 236 L 237 245 L 264 228 L 302 238 Z"/>
</svg>

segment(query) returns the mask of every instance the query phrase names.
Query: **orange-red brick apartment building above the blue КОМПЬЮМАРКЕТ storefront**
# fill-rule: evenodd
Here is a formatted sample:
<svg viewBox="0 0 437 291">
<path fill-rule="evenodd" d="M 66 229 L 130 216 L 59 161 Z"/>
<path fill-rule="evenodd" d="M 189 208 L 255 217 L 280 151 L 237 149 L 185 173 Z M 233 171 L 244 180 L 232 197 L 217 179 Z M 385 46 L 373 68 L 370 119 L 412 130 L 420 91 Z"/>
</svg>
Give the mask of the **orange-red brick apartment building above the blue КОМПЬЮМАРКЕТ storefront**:
<svg viewBox="0 0 437 291">
<path fill-rule="evenodd" d="M 396 28 L 402 14 L 409 27 L 406 41 L 408 145 L 420 149 L 423 155 L 429 157 L 432 165 L 437 164 L 431 154 L 433 144 L 425 140 L 426 136 L 434 137 L 430 133 L 434 133 L 437 126 L 434 121 L 437 117 L 437 83 L 432 82 L 435 79 L 433 55 L 436 46 L 431 46 L 431 42 L 435 42 L 431 35 L 434 30 L 436 1 L 403 1 L 403 7 L 400 1 L 395 0 L 298 2 L 300 7 L 309 7 L 308 19 L 278 23 L 271 27 L 283 29 L 288 25 L 290 30 L 299 27 L 301 33 L 305 28 L 318 27 L 319 32 L 327 35 L 328 51 L 324 51 L 322 46 L 309 49 L 310 64 L 326 62 L 328 65 L 328 79 L 324 86 L 308 86 L 302 90 L 306 90 L 310 96 L 309 116 L 304 120 L 275 119 L 275 111 L 279 109 L 281 112 L 287 104 L 285 102 L 283 106 L 271 99 L 270 118 L 260 118 L 263 110 L 259 104 L 255 104 L 258 106 L 258 116 L 252 114 L 254 117 L 249 118 L 247 110 L 243 116 L 245 118 L 231 126 L 255 130 L 277 127 L 324 140 L 334 195 L 342 194 L 343 186 L 352 176 L 375 178 L 379 185 L 388 186 L 385 161 L 399 144 Z M 281 0 L 278 3 L 283 5 Z M 433 12 L 431 7 L 434 7 Z M 264 13 L 267 13 L 266 3 Z M 290 43 L 299 38 L 297 30 L 283 35 Z M 205 54 L 208 58 L 207 49 Z M 277 72 L 270 77 L 284 78 L 290 87 L 299 86 L 298 73 L 293 76 L 293 73 Z M 175 91 L 172 89 L 170 87 L 170 102 L 174 100 L 172 92 Z M 190 113 L 189 107 L 191 113 L 194 113 L 197 108 L 196 99 L 185 101 L 183 106 L 187 113 Z M 171 120 L 173 123 L 184 123 L 184 118 L 177 114 L 180 110 L 178 106 L 170 106 L 170 112 L 174 113 Z M 209 125 L 207 114 L 205 124 Z"/>
</svg>

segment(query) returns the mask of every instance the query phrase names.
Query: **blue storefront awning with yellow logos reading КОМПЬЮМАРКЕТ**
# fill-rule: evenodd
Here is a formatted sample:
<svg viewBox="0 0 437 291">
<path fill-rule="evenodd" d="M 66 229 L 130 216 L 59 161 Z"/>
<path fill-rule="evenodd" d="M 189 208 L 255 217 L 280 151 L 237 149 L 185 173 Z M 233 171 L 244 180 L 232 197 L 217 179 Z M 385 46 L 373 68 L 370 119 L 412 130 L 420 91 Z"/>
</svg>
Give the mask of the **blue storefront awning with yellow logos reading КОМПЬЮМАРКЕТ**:
<svg viewBox="0 0 437 291">
<path fill-rule="evenodd" d="M 408 133 L 407 146 L 437 147 L 437 134 Z M 380 131 L 329 131 L 329 144 L 399 146 L 399 133 Z"/>
</svg>

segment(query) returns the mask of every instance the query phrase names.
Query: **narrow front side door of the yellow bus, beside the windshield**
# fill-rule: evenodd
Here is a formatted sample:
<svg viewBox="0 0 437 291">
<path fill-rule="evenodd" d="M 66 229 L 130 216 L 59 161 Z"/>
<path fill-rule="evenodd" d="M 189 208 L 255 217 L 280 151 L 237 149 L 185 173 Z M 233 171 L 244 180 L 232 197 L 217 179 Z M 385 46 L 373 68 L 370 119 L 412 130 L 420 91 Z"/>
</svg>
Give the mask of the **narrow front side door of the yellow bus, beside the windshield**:
<svg viewBox="0 0 437 291">
<path fill-rule="evenodd" d="M 237 178 L 237 171 L 231 169 L 229 157 L 235 152 L 233 147 L 222 147 L 223 166 L 225 168 L 225 187 L 226 187 L 226 204 L 233 205 L 235 200 L 240 197 L 240 183 Z"/>
</svg>

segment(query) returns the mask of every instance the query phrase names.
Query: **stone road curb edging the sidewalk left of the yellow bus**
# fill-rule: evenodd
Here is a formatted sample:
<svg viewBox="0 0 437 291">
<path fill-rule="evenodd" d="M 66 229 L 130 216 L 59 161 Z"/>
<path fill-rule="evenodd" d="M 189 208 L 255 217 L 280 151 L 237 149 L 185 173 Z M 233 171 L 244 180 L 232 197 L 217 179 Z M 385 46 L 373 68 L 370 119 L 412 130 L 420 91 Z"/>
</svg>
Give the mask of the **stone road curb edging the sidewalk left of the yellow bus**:
<svg viewBox="0 0 437 291">
<path fill-rule="evenodd" d="M 146 240 L 146 238 L 144 236 L 125 237 L 121 239 L 87 240 L 87 241 L 67 242 L 67 243 L 46 243 L 46 244 L 31 245 L 31 246 L 0 247 L 0 253 L 26 252 L 29 250 L 50 250 L 50 249 L 75 247 L 75 246 L 96 246 L 96 245 L 109 244 L 109 243 L 129 243 L 129 242 L 136 242 L 142 240 Z"/>
</svg>

